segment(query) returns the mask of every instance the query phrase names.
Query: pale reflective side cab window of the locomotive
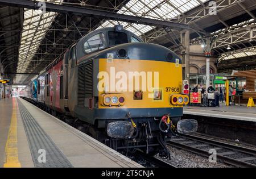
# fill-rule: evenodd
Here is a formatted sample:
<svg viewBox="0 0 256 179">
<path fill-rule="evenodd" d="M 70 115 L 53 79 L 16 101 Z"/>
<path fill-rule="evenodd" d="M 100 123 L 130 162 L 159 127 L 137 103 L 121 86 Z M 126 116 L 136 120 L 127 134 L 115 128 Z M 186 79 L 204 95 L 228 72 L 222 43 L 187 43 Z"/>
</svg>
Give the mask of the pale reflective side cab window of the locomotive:
<svg viewBox="0 0 256 179">
<path fill-rule="evenodd" d="M 99 51 L 105 48 L 105 36 L 103 33 L 96 34 L 85 41 L 84 50 L 86 53 Z"/>
</svg>

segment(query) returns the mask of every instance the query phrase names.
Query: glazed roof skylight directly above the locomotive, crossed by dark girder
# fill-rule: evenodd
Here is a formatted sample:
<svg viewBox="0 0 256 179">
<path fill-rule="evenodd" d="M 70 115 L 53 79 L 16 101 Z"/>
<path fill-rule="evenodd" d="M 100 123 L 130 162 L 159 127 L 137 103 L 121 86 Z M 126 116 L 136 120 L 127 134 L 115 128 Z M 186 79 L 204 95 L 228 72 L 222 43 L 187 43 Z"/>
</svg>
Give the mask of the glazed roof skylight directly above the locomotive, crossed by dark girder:
<svg viewBox="0 0 256 179">
<path fill-rule="evenodd" d="M 208 0 L 201 0 L 201 2 L 205 1 Z M 181 13 L 189 11 L 199 5 L 200 3 L 197 0 L 130 0 L 117 13 L 142 16 L 151 19 L 171 20 Z M 113 27 L 113 24 L 118 24 L 116 22 L 109 22 L 113 22 L 113 20 L 106 20 L 106 22 L 101 24 L 98 28 Z M 120 24 L 122 23 L 120 22 Z M 124 23 L 122 25 L 125 29 L 132 31 L 138 36 L 155 28 L 141 24 Z"/>
</svg>

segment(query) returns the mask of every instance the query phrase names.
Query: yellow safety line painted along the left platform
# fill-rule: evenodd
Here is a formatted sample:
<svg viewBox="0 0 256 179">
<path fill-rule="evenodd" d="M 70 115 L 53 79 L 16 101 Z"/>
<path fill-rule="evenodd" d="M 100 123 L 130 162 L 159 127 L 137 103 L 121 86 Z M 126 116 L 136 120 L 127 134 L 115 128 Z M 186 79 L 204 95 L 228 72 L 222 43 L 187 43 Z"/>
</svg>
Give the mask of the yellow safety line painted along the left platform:
<svg viewBox="0 0 256 179">
<path fill-rule="evenodd" d="M 13 98 L 13 114 L 11 116 L 11 124 L 9 134 L 5 145 L 5 164 L 4 168 L 20 168 L 18 158 L 18 139 L 17 139 L 17 117 L 16 117 L 16 101 Z"/>
</svg>

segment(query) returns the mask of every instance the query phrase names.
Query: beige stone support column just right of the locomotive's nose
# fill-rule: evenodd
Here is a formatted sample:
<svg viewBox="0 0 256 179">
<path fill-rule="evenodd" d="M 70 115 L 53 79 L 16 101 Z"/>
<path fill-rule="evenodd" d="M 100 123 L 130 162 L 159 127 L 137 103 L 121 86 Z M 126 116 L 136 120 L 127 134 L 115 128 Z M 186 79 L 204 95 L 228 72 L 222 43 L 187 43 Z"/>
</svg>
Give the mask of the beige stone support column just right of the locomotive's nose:
<svg viewBox="0 0 256 179">
<path fill-rule="evenodd" d="M 189 80 L 189 30 L 181 31 L 181 44 L 185 49 L 181 51 L 183 80 Z"/>
</svg>

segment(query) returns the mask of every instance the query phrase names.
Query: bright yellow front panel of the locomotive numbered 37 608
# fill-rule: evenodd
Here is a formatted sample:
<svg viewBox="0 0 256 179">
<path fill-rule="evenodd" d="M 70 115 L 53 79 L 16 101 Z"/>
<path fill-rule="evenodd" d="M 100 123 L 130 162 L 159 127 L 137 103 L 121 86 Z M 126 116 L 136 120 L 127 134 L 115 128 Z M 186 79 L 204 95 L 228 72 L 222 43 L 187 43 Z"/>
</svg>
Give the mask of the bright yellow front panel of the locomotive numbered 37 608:
<svg viewBox="0 0 256 179">
<path fill-rule="evenodd" d="M 176 109 L 188 103 L 187 95 L 181 94 L 179 63 L 100 59 L 99 66 L 99 109 Z"/>
</svg>

